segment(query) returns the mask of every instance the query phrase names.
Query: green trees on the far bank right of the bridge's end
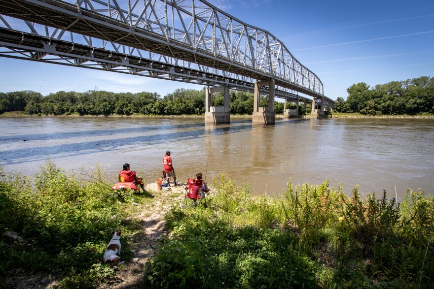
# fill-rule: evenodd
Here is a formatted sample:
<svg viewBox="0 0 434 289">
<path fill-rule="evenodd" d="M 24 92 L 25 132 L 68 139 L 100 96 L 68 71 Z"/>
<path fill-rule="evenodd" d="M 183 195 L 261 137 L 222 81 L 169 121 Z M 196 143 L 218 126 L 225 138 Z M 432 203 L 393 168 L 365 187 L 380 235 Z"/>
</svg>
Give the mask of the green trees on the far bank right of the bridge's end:
<svg viewBox="0 0 434 289">
<path fill-rule="evenodd" d="M 404 81 L 392 81 L 370 88 L 364 82 L 347 89 L 348 97 L 336 99 L 338 112 L 362 114 L 434 113 L 434 78 L 422 76 Z"/>
</svg>

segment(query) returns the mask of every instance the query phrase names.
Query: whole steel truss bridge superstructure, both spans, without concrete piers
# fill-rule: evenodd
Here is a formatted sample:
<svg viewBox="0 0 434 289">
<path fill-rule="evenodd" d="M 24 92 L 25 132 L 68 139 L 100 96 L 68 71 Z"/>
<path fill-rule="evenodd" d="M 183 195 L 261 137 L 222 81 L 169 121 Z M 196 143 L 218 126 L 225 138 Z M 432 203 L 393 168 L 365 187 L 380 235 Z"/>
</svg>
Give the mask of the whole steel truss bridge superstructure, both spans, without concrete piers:
<svg viewBox="0 0 434 289">
<path fill-rule="evenodd" d="M 0 57 L 250 92 L 273 79 L 276 97 L 334 104 L 279 39 L 205 0 L 0 0 Z"/>
</svg>

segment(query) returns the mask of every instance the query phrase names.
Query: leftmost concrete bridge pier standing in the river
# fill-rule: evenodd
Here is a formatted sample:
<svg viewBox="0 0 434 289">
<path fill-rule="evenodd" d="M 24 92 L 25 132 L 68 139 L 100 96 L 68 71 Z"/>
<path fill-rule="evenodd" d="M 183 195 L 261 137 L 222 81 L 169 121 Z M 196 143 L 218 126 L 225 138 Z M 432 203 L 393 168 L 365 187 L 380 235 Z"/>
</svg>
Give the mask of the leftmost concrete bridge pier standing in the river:
<svg viewBox="0 0 434 289">
<path fill-rule="evenodd" d="M 224 94 L 223 106 L 211 106 L 211 95 L 218 92 Z M 228 86 L 207 87 L 205 89 L 205 122 L 230 123 L 229 100 L 230 92 Z"/>
</svg>

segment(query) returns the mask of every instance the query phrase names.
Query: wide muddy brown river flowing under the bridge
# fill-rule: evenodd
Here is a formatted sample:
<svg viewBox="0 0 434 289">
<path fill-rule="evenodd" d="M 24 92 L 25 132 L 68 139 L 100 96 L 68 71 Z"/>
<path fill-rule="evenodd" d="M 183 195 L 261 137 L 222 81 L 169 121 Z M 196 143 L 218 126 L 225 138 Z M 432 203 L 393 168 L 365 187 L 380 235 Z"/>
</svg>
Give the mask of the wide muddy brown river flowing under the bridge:
<svg viewBox="0 0 434 289">
<path fill-rule="evenodd" d="M 225 172 L 253 194 L 279 195 L 292 184 L 342 182 L 351 194 L 375 192 L 398 199 L 407 187 L 433 193 L 434 119 L 277 119 L 275 125 L 202 118 L 0 118 L 0 165 L 32 176 L 48 158 L 76 175 L 99 165 L 108 182 L 122 164 L 160 178 L 172 152 L 178 180 L 202 172 L 210 183 Z M 85 178 L 85 176 L 80 176 Z"/>
</svg>

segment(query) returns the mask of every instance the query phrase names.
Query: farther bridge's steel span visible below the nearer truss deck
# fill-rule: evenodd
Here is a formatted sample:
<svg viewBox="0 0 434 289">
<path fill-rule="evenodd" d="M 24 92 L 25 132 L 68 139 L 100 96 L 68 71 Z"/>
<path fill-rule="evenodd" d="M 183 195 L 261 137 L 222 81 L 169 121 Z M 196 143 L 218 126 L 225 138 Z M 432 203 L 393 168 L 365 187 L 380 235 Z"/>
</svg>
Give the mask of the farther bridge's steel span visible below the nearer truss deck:
<svg viewBox="0 0 434 289">
<path fill-rule="evenodd" d="M 15 24 L 16 22 L 10 22 L 7 26 L 12 28 Z M 32 26 L 32 29 L 29 28 L 31 33 L 0 27 L 0 57 L 106 70 L 211 87 L 228 86 L 232 90 L 253 92 L 254 79 L 251 78 L 123 45 L 103 43 L 100 39 L 92 37 L 79 40 L 77 37 L 83 37 L 80 34 L 68 33 L 71 38 L 68 41 L 56 39 L 58 37 L 41 36 L 46 32 L 46 27 L 33 27 L 33 23 L 27 24 Z M 53 36 L 50 32 L 48 34 Z M 85 44 L 74 43 L 72 38 Z M 89 46 L 88 43 L 94 46 Z M 268 87 L 263 86 L 261 93 L 268 94 Z M 278 89 L 276 95 L 288 100 L 310 100 L 286 88 Z"/>
</svg>

